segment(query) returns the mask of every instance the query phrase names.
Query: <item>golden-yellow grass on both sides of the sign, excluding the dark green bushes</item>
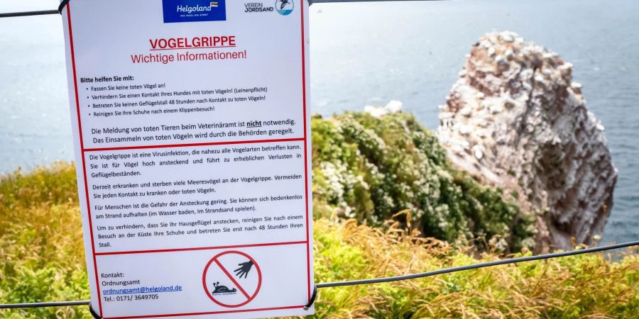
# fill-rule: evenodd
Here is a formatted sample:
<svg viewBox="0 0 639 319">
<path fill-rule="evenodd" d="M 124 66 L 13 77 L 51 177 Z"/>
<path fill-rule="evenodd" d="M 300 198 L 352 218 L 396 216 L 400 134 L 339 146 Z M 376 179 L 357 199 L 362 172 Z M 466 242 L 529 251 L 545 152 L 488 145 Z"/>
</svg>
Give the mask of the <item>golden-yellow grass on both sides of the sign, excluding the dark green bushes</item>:
<svg viewBox="0 0 639 319">
<path fill-rule="evenodd" d="M 399 224 L 315 221 L 316 282 L 495 260 Z M 57 163 L 0 180 L 0 303 L 85 300 L 75 168 Z M 530 254 L 524 251 L 520 254 Z M 520 255 L 518 254 L 518 255 Z M 316 318 L 638 318 L 639 256 L 565 257 L 388 284 L 320 289 Z M 90 318 L 86 307 L 0 310 L 0 318 Z"/>
</svg>

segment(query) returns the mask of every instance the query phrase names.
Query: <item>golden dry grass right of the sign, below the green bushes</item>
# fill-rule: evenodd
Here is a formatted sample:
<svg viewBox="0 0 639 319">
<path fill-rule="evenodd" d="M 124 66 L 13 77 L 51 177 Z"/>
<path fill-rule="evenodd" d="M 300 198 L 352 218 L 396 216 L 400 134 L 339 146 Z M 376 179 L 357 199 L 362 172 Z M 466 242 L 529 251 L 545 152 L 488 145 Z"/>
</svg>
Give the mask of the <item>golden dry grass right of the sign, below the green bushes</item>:
<svg viewBox="0 0 639 319">
<path fill-rule="evenodd" d="M 354 220 L 315 223 L 317 282 L 396 276 L 499 259 Z M 530 252 L 525 253 L 530 254 Z M 517 254 L 520 256 L 523 254 Z M 639 256 L 564 257 L 388 284 L 320 289 L 318 318 L 638 318 Z"/>
</svg>

